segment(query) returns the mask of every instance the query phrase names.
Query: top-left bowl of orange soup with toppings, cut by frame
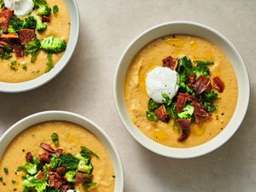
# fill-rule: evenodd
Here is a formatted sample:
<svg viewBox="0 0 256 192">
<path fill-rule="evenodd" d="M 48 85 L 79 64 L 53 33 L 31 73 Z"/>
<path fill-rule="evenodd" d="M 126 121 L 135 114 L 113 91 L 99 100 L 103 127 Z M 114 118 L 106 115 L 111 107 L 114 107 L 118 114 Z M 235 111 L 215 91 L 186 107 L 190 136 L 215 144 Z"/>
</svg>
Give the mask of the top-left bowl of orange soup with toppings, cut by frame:
<svg viewBox="0 0 256 192">
<path fill-rule="evenodd" d="M 11 0 L 1 6 L 0 91 L 22 92 L 49 82 L 78 42 L 76 1 Z"/>
</svg>

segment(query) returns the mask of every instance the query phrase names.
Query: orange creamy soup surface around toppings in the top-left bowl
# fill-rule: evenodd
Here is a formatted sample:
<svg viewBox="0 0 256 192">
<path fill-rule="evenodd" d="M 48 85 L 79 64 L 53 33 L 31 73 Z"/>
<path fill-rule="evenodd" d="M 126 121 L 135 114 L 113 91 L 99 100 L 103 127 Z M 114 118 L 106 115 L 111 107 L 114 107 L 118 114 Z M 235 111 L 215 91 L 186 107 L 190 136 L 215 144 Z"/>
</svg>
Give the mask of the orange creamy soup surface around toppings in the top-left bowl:
<svg viewBox="0 0 256 192">
<path fill-rule="evenodd" d="M 55 4 L 59 7 L 59 12 L 56 15 L 51 13 L 50 22 L 47 23 L 47 29 L 44 32 L 36 32 L 38 35 L 38 39 L 41 40 L 43 38 L 49 36 L 55 36 L 59 39 L 65 39 L 68 42 L 69 33 L 70 33 L 70 20 L 69 14 L 67 10 L 67 5 L 65 0 L 48 0 L 47 3 L 49 7 L 53 7 Z M 39 76 L 43 75 L 47 69 L 47 53 L 44 51 L 40 51 L 38 54 L 37 60 L 32 63 L 31 55 L 24 56 L 23 58 L 16 59 L 15 54 L 12 54 L 13 57 L 9 60 L 0 59 L 0 81 L 9 82 L 9 83 L 17 83 L 24 82 L 31 79 L 36 79 Z M 52 61 L 53 66 L 57 61 L 61 59 L 63 53 L 53 54 Z M 17 61 L 18 70 L 14 71 L 10 69 L 9 64 L 11 61 Z M 23 70 L 21 67 L 22 63 L 26 63 L 26 70 Z"/>
</svg>

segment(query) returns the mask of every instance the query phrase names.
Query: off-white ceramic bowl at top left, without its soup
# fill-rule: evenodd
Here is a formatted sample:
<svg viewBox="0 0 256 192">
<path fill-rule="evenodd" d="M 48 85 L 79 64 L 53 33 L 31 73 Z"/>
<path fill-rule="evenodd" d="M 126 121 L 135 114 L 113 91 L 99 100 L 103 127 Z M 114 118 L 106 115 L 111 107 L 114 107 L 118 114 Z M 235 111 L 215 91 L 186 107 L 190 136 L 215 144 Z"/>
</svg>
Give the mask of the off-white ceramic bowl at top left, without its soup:
<svg viewBox="0 0 256 192">
<path fill-rule="evenodd" d="M 23 92 L 26 90 L 33 90 L 39 86 L 46 84 L 49 80 L 55 78 L 55 76 L 61 72 L 61 70 L 67 65 L 73 51 L 76 48 L 78 39 L 79 39 L 79 29 L 80 29 L 80 16 L 79 9 L 76 3 L 76 0 L 66 0 L 67 9 L 70 16 L 70 36 L 67 43 L 67 49 L 64 54 L 61 56 L 60 61 L 55 64 L 49 73 L 44 73 L 36 79 L 32 79 L 26 82 L 21 83 L 5 83 L 0 82 L 0 92 Z"/>
</svg>

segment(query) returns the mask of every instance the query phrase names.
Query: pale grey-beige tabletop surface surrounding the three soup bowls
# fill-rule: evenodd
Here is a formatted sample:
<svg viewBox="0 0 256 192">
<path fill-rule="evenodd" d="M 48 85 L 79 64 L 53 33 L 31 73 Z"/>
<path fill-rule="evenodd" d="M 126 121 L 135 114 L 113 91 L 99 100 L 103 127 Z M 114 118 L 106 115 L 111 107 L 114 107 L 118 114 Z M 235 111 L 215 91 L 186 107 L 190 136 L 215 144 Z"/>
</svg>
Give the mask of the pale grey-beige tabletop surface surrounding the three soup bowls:
<svg viewBox="0 0 256 192">
<path fill-rule="evenodd" d="M 0 134 L 44 110 L 80 113 L 108 132 L 125 168 L 125 192 L 256 191 L 256 1 L 78 0 L 81 32 L 68 66 L 37 90 L 0 93 Z M 247 64 L 251 101 L 241 128 L 218 150 L 192 160 L 153 154 L 125 131 L 113 104 L 113 74 L 131 40 L 156 24 L 191 20 L 231 40 Z"/>
</svg>

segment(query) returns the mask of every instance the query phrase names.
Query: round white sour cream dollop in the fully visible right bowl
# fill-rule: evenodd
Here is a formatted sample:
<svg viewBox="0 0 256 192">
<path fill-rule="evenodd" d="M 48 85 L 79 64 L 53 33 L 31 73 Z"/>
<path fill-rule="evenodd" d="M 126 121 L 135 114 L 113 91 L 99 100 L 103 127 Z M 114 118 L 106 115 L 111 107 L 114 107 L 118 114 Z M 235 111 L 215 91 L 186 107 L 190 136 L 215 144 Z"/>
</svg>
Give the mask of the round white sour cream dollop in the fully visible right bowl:
<svg viewBox="0 0 256 192">
<path fill-rule="evenodd" d="M 163 103 L 163 93 L 172 99 L 177 94 L 177 72 L 168 67 L 155 67 L 146 78 L 147 93 L 154 102 Z"/>
</svg>

